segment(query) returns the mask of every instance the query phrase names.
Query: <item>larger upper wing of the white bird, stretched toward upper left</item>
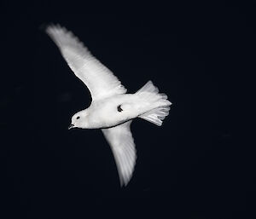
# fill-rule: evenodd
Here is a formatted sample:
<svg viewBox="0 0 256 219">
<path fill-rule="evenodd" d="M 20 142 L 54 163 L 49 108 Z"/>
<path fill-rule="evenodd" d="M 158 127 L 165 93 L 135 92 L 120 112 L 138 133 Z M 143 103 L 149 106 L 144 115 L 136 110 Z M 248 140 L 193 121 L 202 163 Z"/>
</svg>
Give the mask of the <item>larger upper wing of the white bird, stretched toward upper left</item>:
<svg viewBox="0 0 256 219">
<path fill-rule="evenodd" d="M 92 100 L 125 94 L 126 89 L 106 66 L 90 54 L 84 44 L 65 27 L 48 26 L 46 32 L 61 50 L 75 75 L 90 90 Z"/>
</svg>

